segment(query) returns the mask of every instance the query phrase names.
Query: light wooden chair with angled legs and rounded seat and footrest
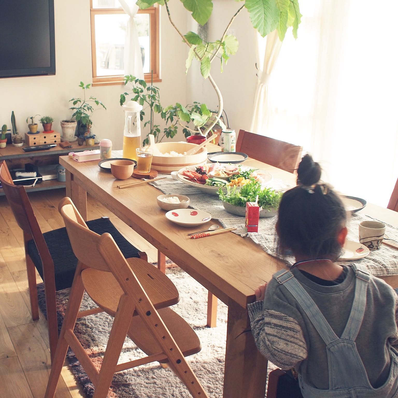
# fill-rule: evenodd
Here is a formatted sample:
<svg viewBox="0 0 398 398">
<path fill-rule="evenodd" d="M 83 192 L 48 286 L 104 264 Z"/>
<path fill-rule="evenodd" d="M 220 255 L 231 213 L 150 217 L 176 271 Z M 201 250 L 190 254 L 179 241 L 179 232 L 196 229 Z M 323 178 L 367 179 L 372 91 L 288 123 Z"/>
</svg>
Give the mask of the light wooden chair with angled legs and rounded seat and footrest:
<svg viewBox="0 0 398 398">
<path fill-rule="evenodd" d="M 160 271 L 150 265 L 148 273 L 148 263 L 138 258 L 126 260 L 110 234 L 100 236 L 90 231 L 69 198 L 61 201 L 59 210 L 79 262 L 45 398 L 54 397 L 69 346 L 95 386 L 94 398 L 107 396 L 115 372 L 154 361 L 168 364 L 193 397 L 207 397 L 184 357 L 200 351 L 196 333 L 170 308 L 155 309 L 169 305 L 168 298 L 162 296 L 169 291 L 174 295 L 174 284 L 169 280 L 170 286 L 160 286 L 155 272 L 163 275 Z M 84 247 L 81 242 L 85 242 Z M 115 317 L 100 371 L 73 333 L 85 290 Z M 126 335 L 147 356 L 117 365 Z"/>
</svg>

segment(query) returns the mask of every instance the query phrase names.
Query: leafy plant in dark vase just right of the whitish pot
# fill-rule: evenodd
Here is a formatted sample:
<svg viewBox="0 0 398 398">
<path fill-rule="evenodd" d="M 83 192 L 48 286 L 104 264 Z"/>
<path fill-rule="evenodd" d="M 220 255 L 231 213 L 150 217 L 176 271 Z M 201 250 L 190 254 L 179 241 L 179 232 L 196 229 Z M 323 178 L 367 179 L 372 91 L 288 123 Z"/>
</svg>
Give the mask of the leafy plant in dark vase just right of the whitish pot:
<svg viewBox="0 0 398 398">
<path fill-rule="evenodd" d="M 101 106 L 106 110 L 105 105 L 97 100 L 97 98 L 90 96 L 90 99 L 86 100 L 86 90 L 90 89 L 91 84 L 84 84 L 80 82 L 79 87 L 83 89 L 83 98 L 72 98 L 69 102 L 73 101 L 73 107 L 69 108 L 73 111 L 72 119 L 75 118 L 78 123 L 78 135 L 86 133 L 90 134 L 90 129 L 93 125 L 92 114 L 96 110 L 94 106 Z M 78 106 L 75 106 L 78 105 Z"/>
</svg>

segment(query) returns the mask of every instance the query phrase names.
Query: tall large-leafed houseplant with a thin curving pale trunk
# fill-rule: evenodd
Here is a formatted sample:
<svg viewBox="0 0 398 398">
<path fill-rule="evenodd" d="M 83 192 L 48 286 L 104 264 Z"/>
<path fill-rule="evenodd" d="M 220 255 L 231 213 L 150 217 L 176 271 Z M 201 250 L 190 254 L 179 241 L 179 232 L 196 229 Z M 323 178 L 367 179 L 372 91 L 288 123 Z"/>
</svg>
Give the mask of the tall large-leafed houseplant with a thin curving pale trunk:
<svg viewBox="0 0 398 398">
<path fill-rule="evenodd" d="M 213 13 L 212 0 L 180 1 L 185 9 L 191 13 L 192 18 L 197 21 L 199 25 L 205 25 Z M 242 10 L 246 8 L 250 15 L 250 20 L 253 27 L 260 33 L 262 37 L 265 37 L 276 29 L 278 31 L 279 39 L 283 41 L 288 27 L 292 26 L 293 36 L 297 38 L 297 29 L 301 21 L 298 0 L 236 0 L 236 2 L 238 3 L 238 9 L 230 18 L 230 21 L 228 22 L 228 25 L 226 26 L 220 39 L 216 41 L 206 41 L 195 32 L 189 31 L 186 34 L 183 34 L 179 30 L 172 20 L 168 0 L 137 1 L 137 5 L 141 9 L 151 7 L 156 3 L 166 8 L 170 23 L 184 43 L 186 43 L 189 47 L 188 57 L 185 63 L 186 71 L 189 69 L 194 59 L 198 60 L 200 62 L 200 70 L 203 78 L 209 79 L 217 94 L 219 101 L 217 116 L 213 119 L 212 123 L 207 123 L 203 135 L 207 135 L 217 121 L 219 121 L 223 109 L 222 94 L 215 80 L 211 76 L 211 64 L 215 59 L 220 60 L 222 71 L 224 64 L 226 64 L 230 56 L 235 55 L 238 51 L 238 40 L 234 35 L 228 35 L 227 31 Z M 182 117 L 185 111 L 185 108 L 179 109 L 179 115 Z M 185 115 L 185 118 L 187 118 L 187 115 Z"/>
</svg>

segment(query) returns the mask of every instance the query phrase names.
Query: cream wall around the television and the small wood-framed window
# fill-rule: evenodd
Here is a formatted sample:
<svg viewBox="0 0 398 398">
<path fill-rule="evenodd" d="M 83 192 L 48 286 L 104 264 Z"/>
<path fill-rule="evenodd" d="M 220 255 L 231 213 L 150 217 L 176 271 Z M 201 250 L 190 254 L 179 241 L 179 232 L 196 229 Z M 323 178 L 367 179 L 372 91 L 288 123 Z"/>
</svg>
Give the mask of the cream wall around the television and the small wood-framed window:
<svg viewBox="0 0 398 398">
<path fill-rule="evenodd" d="M 55 1 L 55 76 L 35 76 L 0 79 L 0 125 L 11 128 L 11 112 L 16 115 L 20 133 L 28 131 L 26 118 L 31 115 L 54 117 L 53 129 L 61 131 L 60 121 L 69 119 L 72 111 L 68 101 L 82 97 L 80 81 L 92 82 L 90 1 Z M 174 20 L 186 30 L 186 14 L 180 2 L 173 4 Z M 162 103 L 185 103 L 185 47 L 168 21 L 166 10 L 161 10 Z M 92 131 L 97 138 L 109 138 L 114 149 L 123 142 L 123 110 L 119 96 L 123 85 L 96 86 L 90 94 L 102 101 L 107 110 L 93 114 Z M 127 90 L 129 91 L 129 90 Z M 182 97 L 182 98 L 181 98 Z M 39 125 L 39 129 L 41 125 Z M 144 132 L 142 132 L 144 134 Z"/>
</svg>

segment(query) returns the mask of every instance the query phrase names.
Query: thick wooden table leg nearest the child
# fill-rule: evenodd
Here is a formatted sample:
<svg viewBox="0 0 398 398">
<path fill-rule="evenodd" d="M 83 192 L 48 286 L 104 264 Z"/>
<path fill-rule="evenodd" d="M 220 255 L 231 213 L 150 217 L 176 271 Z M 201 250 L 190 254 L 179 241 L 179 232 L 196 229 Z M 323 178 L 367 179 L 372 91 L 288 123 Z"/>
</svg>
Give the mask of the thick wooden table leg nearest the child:
<svg viewBox="0 0 398 398">
<path fill-rule="evenodd" d="M 267 359 L 258 351 L 248 311 L 228 302 L 224 398 L 264 398 Z"/>
</svg>

